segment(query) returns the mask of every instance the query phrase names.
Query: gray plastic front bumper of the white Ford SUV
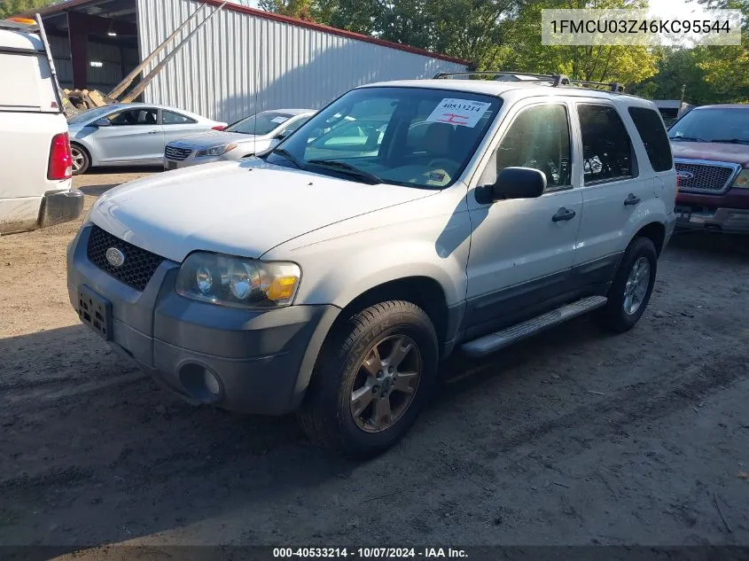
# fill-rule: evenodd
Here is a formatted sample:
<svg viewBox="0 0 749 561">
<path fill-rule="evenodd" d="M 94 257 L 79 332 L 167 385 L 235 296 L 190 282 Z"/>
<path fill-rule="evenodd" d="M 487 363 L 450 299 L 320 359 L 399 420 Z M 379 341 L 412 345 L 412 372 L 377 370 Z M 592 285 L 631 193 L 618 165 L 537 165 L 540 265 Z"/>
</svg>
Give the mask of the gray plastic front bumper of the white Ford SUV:
<svg viewBox="0 0 749 561">
<path fill-rule="evenodd" d="M 68 247 L 67 288 L 76 310 L 83 285 L 111 302 L 110 345 L 187 401 L 266 415 L 300 405 L 339 308 L 187 300 L 174 290 L 179 263 L 168 260 L 138 292 L 89 261 L 90 230 L 84 225 Z"/>
</svg>

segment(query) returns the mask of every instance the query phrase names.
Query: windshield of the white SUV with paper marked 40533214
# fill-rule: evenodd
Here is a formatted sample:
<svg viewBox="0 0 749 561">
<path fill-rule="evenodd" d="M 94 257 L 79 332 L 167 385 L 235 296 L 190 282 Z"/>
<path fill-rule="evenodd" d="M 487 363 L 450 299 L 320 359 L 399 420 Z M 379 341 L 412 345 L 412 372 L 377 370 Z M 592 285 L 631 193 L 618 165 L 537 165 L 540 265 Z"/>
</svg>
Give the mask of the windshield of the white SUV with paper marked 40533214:
<svg viewBox="0 0 749 561">
<path fill-rule="evenodd" d="M 363 183 L 441 189 L 463 173 L 500 105 L 456 90 L 352 90 L 265 158 Z"/>
</svg>

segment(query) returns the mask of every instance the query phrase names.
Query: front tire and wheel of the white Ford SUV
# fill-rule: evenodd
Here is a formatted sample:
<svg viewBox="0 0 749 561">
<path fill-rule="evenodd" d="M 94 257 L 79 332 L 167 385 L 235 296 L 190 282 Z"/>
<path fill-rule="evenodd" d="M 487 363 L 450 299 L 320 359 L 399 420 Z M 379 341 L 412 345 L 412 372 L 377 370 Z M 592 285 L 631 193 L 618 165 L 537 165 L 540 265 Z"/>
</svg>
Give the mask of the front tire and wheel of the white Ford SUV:
<svg viewBox="0 0 749 561">
<path fill-rule="evenodd" d="M 310 440 L 343 456 L 377 456 L 416 422 L 438 362 L 437 335 L 423 309 L 405 301 L 366 308 L 340 323 L 326 341 L 297 414 L 301 428 Z"/>
</svg>

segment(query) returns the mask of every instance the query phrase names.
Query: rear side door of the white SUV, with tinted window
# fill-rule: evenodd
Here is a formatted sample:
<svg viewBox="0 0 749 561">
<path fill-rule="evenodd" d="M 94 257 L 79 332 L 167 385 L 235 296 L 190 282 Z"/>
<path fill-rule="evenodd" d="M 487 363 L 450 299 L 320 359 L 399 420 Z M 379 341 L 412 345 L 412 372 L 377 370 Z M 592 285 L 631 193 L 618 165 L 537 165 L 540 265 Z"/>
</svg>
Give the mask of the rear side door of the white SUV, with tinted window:
<svg viewBox="0 0 749 561">
<path fill-rule="evenodd" d="M 578 102 L 573 112 L 581 130 L 582 217 L 575 261 L 577 282 L 607 283 L 627 248 L 641 205 L 654 196 L 650 166 L 639 161 L 631 137 L 636 130 L 608 100 Z M 641 166 L 642 164 L 642 166 Z"/>
</svg>

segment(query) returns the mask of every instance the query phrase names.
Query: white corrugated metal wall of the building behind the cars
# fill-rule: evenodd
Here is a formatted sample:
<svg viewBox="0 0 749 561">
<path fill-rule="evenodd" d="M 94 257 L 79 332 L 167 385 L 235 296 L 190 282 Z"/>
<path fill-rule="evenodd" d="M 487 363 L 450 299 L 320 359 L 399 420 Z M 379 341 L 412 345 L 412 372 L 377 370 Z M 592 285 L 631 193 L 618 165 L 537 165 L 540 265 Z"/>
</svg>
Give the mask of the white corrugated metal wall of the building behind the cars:
<svg viewBox="0 0 749 561">
<path fill-rule="evenodd" d="M 137 2 L 142 56 L 202 5 L 195 0 Z M 168 63 L 144 97 L 235 121 L 255 110 L 316 109 L 364 83 L 464 69 L 439 58 L 224 9 Z"/>
</svg>

